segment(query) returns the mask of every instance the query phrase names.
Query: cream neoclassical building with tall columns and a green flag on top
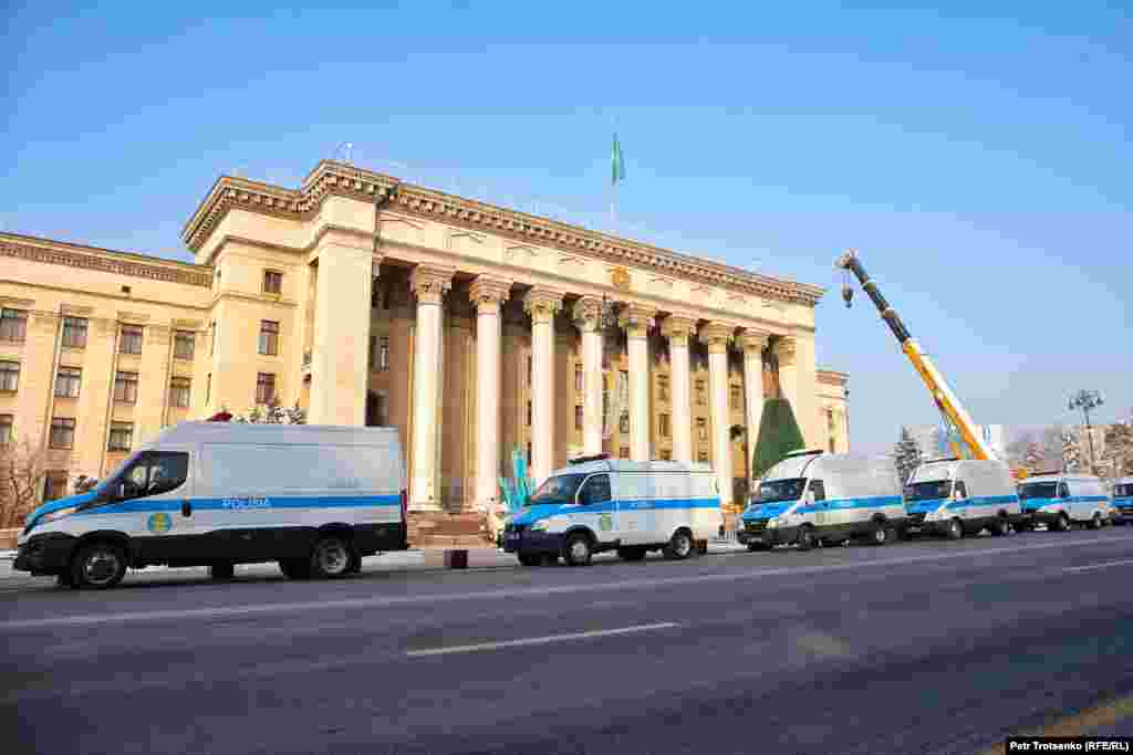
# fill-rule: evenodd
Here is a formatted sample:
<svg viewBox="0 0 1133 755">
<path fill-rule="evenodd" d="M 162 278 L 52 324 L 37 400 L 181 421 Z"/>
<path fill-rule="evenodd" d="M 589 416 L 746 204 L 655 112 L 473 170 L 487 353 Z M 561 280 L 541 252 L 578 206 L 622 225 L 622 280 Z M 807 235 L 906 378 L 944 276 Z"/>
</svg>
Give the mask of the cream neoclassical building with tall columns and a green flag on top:
<svg viewBox="0 0 1133 755">
<path fill-rule="evenodd" d="M 195 263 L 0 234 L 0 436 L 45 495 L 162 427 L 273 397 L 401 431 L 415 511 L 497 497 L 519 449 L 713 464 L 743 487 L 765 397 L 849 447 L 815 364 L 823 290 L 338 162 L 298 188 L 220 178 Z"/>
</svg>

